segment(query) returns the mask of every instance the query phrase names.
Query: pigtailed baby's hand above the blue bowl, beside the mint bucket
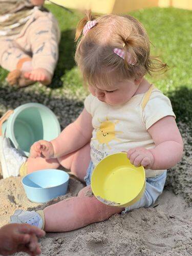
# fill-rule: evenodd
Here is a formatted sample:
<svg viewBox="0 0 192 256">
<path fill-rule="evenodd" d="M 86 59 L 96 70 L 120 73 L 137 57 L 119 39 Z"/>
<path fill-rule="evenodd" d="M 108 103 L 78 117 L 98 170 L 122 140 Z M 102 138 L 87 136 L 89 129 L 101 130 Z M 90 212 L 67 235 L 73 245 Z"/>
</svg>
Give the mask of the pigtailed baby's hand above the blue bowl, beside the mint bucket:
<svg viewBox="0 0 192 256">
<path fill-rule="evenodd" d="M 31 146 L 30 156 L 32 158 L 44 156 L 45 159 L 50 159 L 54 156 L 54 149 L 52 143 L 43 140 L 35 142 Z"/>
</svg>

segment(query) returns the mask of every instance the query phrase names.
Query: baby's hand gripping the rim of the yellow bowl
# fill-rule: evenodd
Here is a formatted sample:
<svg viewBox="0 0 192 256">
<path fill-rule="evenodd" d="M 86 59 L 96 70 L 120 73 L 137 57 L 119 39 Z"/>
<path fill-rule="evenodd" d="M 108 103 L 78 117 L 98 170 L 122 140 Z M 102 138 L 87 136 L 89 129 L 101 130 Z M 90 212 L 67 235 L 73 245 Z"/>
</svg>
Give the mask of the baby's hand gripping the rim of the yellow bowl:
<svg viewBox="0 0 192 256">
<path fill-rule="evenodd" d="M 127 151 L 127 158 L 131 164 L 136 167 L 143 166 L 145 169 L 150 169 L 154 164 L 154 156 L 152 152 L 146 148 L 132 148 Z"/>
</svg>

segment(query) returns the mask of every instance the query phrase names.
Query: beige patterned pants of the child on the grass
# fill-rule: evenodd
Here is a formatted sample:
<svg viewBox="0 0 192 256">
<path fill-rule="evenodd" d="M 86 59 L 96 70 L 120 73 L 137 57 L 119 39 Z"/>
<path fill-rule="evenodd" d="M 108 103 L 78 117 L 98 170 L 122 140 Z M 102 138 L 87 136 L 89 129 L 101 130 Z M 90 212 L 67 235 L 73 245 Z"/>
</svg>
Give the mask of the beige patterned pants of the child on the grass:
<svg viewBox="0 0 192 256">
<path fill-rule="evenodd" d="M 60 31 L 53 14 L 35 11 L 16 37 L 0 37 L 0 65 L 12 71 L 22 58 L 32 57 L 32 67 L 51 74 L 58 60 Z"/>
</svg>

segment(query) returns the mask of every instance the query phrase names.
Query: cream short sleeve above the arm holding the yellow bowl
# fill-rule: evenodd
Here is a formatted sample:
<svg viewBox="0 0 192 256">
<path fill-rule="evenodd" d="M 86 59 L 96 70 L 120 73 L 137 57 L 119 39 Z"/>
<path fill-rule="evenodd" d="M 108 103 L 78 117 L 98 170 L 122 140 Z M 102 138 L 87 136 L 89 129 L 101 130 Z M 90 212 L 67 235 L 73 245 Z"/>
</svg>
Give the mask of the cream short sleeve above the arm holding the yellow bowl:
<svg viewBox="0 0 192 256">
<path fill-rule="evenodd" d="M 146 130 L 168 115 L 176 118 L 168 97 L 160 91 L 152 92 L 150 100 L 143 110 L 143 123 L 145 124 Z"/>
</svg>

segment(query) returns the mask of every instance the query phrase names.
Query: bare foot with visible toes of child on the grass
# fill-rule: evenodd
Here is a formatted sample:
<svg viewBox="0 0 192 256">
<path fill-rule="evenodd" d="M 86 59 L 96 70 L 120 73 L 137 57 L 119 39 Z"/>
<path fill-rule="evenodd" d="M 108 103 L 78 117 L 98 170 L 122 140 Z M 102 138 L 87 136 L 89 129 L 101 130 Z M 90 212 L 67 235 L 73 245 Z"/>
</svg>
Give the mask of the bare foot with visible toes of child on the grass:
<svg viewBox="0 0 192 256">
<path fill-rule="evenodd" d="M 25 72 L 24 76 L 31 81 L 40 82 L 44 85 L 51 84 L 52 75 L 49 71 L 44 68 L 37 68 L 30 72 Z"/>
</svg>

